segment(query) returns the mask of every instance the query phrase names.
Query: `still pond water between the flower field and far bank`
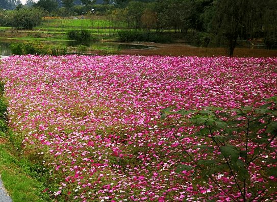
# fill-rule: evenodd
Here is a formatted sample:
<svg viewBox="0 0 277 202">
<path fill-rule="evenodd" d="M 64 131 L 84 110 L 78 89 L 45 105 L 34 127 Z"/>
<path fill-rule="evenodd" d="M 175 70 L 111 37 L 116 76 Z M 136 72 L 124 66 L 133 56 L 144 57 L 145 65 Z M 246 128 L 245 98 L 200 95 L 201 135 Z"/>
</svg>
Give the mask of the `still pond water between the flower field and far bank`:
<svg viewBox="0 0 277 202">
<path fill-rule="evenodd" d="M 19 41 L 14 41 L 19 42 Z M 0 55 L 3 56 L 10 56 L 12 55 L 10 44 L 12 42 L 9 41 L 0 41 Z M 52 43 L 52 44 L 62 44 L 66 46 L 77 46 L 78 44 L 72 42 L 46 42 L 45 43 Z M 123 49 L 155 49 L 157 48 L 154 45 L 142 45 L 142 44 L 135 44 L 135 43 L 119 43 L 119 42 L 95 42 L 89 44 L 91 49 L 95 50 L 123 50 Z"/>
</svg>

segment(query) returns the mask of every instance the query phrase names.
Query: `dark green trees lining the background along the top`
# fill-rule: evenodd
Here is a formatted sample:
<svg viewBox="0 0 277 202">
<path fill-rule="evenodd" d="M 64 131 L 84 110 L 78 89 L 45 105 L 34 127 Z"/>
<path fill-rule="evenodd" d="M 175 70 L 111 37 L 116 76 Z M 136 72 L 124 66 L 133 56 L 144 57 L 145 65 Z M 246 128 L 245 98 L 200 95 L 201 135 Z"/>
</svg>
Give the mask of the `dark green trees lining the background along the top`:
<svg viewBox="0 0 277 202">
<path fill-rule="evenodd" d="M 19 0 L 5 0 L 19 1 Z M 276 43 L 275 0 L 28 0 L 44 15 L 106 15 L 116 24 L 148 32 L 192 32 L 200 45 L 225 45 L 233 55 L 237 40 L 264 38 Z M 102 3 L 96 5 L 96 3 Z M 1 6 L 1 5 L 0 5 Z M 25 6 L 26 7 L 26 6 Z M 62 7 L 58 9 L 59 7 Z M 21 8 L 17 5 L 17 13 Z M 32 11 L 32 12 L 33 12 Z M 1 13 L 0 13 L 1 15 Z M 3 21 L 3 19 L 2 19 Z M 5 21 L 5 20 L 4 20 Z M 0 20 L 1 23 L 1 20 Z M 26 27 L 27 28 L 27 27 Z"/>
</svg>

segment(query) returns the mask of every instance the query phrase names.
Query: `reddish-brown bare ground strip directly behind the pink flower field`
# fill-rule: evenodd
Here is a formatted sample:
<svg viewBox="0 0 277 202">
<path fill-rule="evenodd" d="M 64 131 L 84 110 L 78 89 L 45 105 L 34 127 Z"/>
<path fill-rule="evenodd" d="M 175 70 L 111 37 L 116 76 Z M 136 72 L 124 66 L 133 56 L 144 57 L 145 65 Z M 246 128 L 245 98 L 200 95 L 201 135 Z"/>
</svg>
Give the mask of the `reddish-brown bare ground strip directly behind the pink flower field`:
<svg viewBox="0 0 277 202">
<path fill-rule="evenodd" d="M 225 48 L 205 48 L 194 47 L 182 43 L 160 44 L 160 43 L 139 43 L 140 45 L 156 46 L 155 49 L 123 49 L 123 55 L 143 55 L 143 56 L 227 56 Z M 256 48 L 235 48 L 236 57 L 277 57 L 277 50 L 256 49 Z"/>
</svg>

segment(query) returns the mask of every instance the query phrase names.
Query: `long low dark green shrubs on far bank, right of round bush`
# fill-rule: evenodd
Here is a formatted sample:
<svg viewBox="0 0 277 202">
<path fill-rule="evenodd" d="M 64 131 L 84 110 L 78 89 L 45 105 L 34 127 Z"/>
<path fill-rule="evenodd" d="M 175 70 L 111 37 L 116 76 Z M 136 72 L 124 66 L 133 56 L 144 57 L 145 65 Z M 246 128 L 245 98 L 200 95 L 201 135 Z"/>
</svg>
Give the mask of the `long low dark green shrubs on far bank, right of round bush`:
<svg viewBox="0 0 277 202">
<path fill-rule="evenodd" d="M 130 42 L 130 41 L 150 41 L 155 43 L 172 42 L 172 38 L 169 35 L 163 35 L 158 33 L 121 30 L 121 31 L 118 31 L 118 35 L 119 35 L 120 41 L 122 42 Z"/>
</svg>

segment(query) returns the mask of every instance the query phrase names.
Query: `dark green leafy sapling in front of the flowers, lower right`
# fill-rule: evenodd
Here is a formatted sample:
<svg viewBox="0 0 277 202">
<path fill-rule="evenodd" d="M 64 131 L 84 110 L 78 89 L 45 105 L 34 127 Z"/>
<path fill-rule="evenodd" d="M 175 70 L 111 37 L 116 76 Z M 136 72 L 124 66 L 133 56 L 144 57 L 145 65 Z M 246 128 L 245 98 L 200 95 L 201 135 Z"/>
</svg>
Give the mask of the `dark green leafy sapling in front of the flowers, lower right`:
<svg viewBox="0 0 277 202">
<path fill-rule="evenodd" d="M 193 170 L 192 185 L 215 184 L 233 201 L 276 199 L 277 192 L 277 97 L 260 107 L 223 110 L 207 107 L 202 111 L 166 108 L 162 119 L 169 124 L 173 137 L 183 150 L 184 164 L 177 172 Z M 191 135 L 175 129 L 194 125 Z M 205 140 L 198 144 L 198 158 L 182 142 L 188 136 Z M 201 142 L 199 142 L 201 143 Z M 202 155 L 199 158 L 199 154 Z M 230 189 L 230 184 L 233 184 Z"/>
</svg>

